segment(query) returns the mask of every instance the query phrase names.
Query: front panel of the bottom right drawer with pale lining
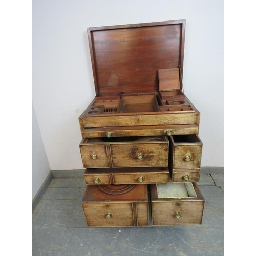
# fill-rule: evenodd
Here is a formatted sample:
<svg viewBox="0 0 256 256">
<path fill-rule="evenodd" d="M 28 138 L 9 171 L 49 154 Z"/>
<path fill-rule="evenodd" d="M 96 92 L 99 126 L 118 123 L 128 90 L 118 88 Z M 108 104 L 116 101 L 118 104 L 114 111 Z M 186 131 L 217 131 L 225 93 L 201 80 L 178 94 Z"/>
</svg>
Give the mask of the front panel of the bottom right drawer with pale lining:
<svg viewBox="0 0 256 256">
<path fill-rule="evenodd" d="M 204 201 L 152 202 L 152 223 L 154 226 L 201 224 L 203 209 Z"/>
</svg>

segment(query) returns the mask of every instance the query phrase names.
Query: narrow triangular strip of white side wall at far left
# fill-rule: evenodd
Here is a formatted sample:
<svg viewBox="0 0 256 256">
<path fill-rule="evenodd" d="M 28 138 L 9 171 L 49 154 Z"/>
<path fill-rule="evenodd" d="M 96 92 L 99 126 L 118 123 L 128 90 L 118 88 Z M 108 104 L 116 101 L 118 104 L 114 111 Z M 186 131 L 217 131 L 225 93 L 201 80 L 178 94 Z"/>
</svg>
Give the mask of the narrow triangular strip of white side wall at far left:
<svg viewBox="0 0 256 256">
<path fill-rule="evenodd" d="M 32 200 L 49 173 L 50 166 L 32 103 Z"/>
</svg>

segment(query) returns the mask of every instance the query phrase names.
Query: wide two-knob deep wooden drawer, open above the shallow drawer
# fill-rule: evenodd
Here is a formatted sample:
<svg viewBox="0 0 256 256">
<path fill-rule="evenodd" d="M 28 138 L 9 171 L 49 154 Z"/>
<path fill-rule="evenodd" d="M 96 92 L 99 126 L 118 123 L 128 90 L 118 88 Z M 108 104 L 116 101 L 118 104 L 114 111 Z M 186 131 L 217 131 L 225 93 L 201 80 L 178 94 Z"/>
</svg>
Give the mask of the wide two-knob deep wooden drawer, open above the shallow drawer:
<svg viewBox="0 0 256 256">
<path fill-rule="evenodd" d="M 167 167 L 167 136 L 86 138 L 80 143 L 84 168 Z"/>
</svg>

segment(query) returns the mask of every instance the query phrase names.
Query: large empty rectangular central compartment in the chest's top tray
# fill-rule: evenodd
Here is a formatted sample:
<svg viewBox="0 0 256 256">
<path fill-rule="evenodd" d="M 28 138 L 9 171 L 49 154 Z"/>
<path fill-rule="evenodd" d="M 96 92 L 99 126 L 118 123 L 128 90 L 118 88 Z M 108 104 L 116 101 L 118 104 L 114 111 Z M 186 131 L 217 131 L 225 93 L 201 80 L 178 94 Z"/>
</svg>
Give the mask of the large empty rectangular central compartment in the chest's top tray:
<svg viewBox="0 0 256 256">
<path fill-rule="evenodd" d="M 123 95 L 119 113 L 156 112 L 160 111 L 155 94 Z"/>
</svg>

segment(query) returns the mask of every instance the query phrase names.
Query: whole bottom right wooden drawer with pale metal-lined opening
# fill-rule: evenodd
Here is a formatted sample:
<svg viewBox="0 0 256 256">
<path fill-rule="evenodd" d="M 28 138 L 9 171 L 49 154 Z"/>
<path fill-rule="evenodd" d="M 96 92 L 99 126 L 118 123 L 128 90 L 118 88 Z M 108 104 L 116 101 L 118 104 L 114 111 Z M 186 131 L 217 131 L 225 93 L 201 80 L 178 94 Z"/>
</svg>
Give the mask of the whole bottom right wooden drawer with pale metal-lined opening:
<svg viewBox="0 0 256 256">
<path fill-rule="evenodd" d="M 150 185 L 152 225 L 202 224 L 205 200 L 196 183 Z"/>
</svg>

